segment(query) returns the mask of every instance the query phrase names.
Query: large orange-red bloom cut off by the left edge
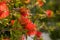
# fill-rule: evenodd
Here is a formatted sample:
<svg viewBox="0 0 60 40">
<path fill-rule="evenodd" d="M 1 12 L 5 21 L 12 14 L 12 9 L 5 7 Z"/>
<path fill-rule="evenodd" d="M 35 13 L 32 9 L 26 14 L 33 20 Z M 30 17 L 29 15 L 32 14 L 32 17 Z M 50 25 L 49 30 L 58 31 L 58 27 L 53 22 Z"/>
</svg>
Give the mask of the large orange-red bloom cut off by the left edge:
<svg viewBox="0 0 60 40">
<path fill-rule="evenodd" d="M 0 2 L 0 19 L 9 16 L 9 9 L 5 2 Z"/>
</svg>

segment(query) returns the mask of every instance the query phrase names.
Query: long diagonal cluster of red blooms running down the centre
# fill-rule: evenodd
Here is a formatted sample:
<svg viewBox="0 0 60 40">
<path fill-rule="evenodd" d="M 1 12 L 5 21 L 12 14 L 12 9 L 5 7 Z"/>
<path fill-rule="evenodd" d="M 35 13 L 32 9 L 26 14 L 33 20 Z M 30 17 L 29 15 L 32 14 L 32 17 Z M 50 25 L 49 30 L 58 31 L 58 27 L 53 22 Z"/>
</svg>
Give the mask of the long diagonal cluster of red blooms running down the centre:
<svg viewBox="0 0 60 40">
<path fill-rule="evenodd" d="M 29 10 L 22 7 L 20 8 L 21 17 L 19 18 L 19 22 L 24 25 L 24 29 L 26 29 L 27 35 L 35 35 L 36 34 L 36 25 L 28 19 L 26 16 L 29 16 Z"/>
</svg>

